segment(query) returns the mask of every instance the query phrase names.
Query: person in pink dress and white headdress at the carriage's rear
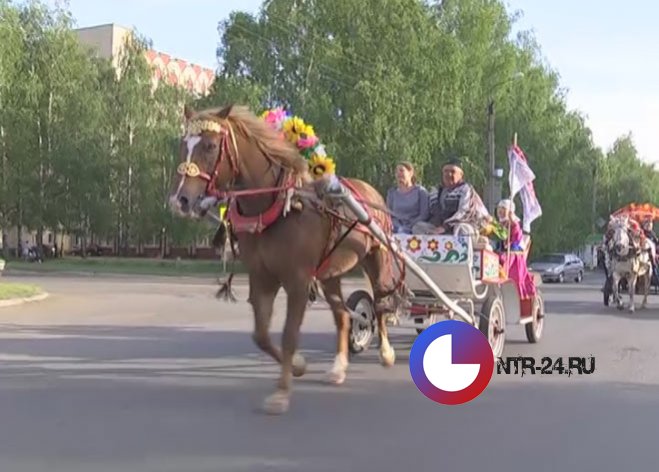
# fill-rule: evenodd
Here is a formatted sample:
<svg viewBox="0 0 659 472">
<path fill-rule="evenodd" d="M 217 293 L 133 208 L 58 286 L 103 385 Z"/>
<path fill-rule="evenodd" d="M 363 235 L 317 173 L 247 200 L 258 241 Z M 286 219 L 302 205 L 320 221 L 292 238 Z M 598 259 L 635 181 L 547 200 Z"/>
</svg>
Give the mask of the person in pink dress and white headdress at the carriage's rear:
<svg viewBox="0 0 659 472">
<path fill-rule="evenodd" d="M 519 218 L 515 215 L 515 203 L 512 200 L 501 200 L 497 205 L 497 217 L 501 227 L 505 229 L 498 251 L 504 274 L 515 282 L 522 300 L 530 299 L 536 293 L 535 281 L 526 266 L 522 247 L 524 233 Z M 510 228 L 510 234 L 508 234 L 508 228 Z"/>
</svg>

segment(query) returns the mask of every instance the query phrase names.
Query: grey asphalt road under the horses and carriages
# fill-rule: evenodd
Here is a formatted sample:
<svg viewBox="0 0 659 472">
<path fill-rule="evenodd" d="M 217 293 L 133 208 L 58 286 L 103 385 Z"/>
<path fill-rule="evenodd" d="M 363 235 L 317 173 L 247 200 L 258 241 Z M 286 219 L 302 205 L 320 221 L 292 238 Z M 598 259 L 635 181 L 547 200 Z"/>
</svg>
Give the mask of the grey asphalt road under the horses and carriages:
<svg viewBox="0 0 659 472">
<path fill-rule="evenodd" d="M 49 299 L 0 309 L 2 472 L 600 472 L 659 463 L 659 295 L 630 315 L 603 306 L 601 279 L 543 286 L 544 339 L 530 345 L 514 328 L 505 355 L 592 355 L 595 372 L 495 373 L 479 398 L 453 407 L 416 389 L 413 332 L 400 329 L 396 366 L 381 367 L 373 350 L 353 359 L 344 385 L 324 384 L 333 323 L 312 308 L 307 374 L 289 413 L 272 417 L 259 408 L 277 368 L 252 343 L 248 306 L 215 300 L 212 281 L 34 281 Z"/>
</svg>

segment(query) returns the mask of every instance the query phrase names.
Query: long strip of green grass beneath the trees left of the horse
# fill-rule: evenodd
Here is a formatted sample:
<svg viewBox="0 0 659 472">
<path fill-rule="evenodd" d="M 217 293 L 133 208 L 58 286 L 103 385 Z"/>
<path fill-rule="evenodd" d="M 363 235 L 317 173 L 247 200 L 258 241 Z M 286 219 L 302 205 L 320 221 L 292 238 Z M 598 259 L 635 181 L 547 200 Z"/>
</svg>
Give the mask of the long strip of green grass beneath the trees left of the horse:
<svg viewBox="0 0 659 472">
<path fill-rule="evenodd" d="M 236 272 L 242 272 L 240 263 L 235 264 Z M 5 271 L 29 271 L 40 273 L 93 273 L 93 274 L 135 274 L 135 275 L 219 275 L 222 262 L 213 260 L 174 260 L 123 257 L 65 257 L 46 259 L 42 264 L 19 260 L 7 261 Z M 227 271 L 231 263 L 227 263 Z"/>
</svg>

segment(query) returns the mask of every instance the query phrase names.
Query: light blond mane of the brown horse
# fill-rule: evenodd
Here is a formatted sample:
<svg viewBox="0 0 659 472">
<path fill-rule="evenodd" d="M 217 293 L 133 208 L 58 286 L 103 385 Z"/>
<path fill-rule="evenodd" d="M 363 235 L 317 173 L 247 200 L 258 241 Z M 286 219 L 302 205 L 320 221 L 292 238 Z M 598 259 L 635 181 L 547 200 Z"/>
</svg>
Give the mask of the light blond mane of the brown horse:
<svg viewBox="0 0 659 472">
<path fill-rule="evenodd" d="M 279 135 L 264 120 L 256 116 L 248 107 L 229 105 L 209 108 L 195 113 L 195 118 L 213 120 L 220 124 L 228 122 L 234 131 L 256 144 L 268 159 L 280 164 L 282 167 L 293 170 L 298 176 L 306 180 L 309 167 L 297 148 Z"/>
</svg>

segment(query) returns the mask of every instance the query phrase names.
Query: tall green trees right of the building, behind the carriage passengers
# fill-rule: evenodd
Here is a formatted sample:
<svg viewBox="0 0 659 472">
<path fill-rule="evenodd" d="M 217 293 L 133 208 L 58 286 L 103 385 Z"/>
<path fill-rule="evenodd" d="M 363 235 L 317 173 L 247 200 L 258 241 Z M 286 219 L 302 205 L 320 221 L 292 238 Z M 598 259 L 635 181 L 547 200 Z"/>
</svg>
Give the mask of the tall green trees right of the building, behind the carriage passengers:
<svg viewBox="0 0 659 472">
<path fill-rule="evenodd" d="M 544 214 L 534 251 L 569 250 L 598 218 L 654 201 L 656 172 L 630 140 L 606 155 L 594 146 L 533 36 L 512 37 L 515 20 L 492 0 L 269 0 L 256 17 L 234 12 L 220 23 L 220 76 L 262 97 L 259 110 L 290 105 L 328 144 L 338 172 L 381 191 L 398 161 L 414 162 L 430 187 L 456 154 L 483 192 L 493 100 L 497 166 L 508 170 L 517 133 L 537 175 Z"/>
</svg>

